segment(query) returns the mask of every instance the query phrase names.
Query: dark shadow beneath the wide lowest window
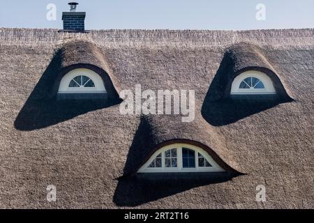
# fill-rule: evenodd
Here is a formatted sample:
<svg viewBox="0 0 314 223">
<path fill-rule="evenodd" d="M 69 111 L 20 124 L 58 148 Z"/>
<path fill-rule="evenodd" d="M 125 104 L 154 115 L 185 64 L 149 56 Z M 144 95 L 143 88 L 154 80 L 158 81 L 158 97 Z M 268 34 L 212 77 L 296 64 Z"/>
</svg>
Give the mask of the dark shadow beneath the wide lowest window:
<svg viewBox="0 0 314 223">
<path fill-rule="evenodd" d="M 195 187 L 223 183 L 236 176 L 239 175 L 229 172 L 137 174 L 119 179 L 113 200 L 117 206 L 135 207 Z"/>
</svg>

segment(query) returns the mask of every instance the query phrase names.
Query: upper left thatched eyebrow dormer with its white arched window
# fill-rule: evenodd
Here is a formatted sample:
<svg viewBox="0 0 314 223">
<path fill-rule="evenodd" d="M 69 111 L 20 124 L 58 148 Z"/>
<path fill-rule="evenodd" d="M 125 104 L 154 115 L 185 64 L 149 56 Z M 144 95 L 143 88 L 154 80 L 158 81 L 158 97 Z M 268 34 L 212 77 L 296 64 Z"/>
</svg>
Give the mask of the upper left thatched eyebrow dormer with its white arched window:
<svg viewBox="0 0 314 223">
<path fill-rule="evenodd" d="M 53 71 L 57 75 L 53 87 L 57 100 L 101 100 L 106 104 L 121 101 L 117 79 L 95 43 L 70 41 L 55 57 L 60 61 L 60 69 Z"/>
</svg>

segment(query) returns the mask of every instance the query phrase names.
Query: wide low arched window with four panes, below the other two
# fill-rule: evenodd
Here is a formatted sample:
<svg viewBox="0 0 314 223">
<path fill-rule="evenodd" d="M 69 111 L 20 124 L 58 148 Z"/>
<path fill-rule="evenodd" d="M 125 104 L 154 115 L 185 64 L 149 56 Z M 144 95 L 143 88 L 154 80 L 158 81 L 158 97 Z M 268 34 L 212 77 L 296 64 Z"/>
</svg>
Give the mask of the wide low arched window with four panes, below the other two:
<svg viewBox="0 0 314 223">
<path fill-rule="evenodd" d="M 202 148 L 172 144 L 160 148 L 139 169 L 139 173 L 225 171 Z"/>
</svg>

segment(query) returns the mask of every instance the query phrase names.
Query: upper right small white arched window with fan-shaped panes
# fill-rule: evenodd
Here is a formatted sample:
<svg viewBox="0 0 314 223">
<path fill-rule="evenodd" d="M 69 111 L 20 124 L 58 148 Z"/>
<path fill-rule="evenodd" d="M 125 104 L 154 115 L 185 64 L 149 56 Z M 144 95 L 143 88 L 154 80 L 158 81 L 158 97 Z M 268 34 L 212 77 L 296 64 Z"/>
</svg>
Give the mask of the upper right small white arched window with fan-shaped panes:
<svg viewBox="0 0 314 223">
<path fill-rule="evenodd" d="M 232 82 L 231 95 L 274 95 L 276 90 L 270 77 L 263 72 L 249 70 Z"/>
</svg>

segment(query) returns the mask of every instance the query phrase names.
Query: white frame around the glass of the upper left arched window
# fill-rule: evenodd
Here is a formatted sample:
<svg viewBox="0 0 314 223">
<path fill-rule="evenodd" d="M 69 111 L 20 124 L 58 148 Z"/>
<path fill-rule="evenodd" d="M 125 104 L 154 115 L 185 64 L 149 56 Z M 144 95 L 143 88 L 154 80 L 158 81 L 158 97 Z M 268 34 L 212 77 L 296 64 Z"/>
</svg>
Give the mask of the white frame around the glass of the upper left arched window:
<svg viewBox="0 0 314 223">
<path fill-rule="evenodd" d="M 86 76 L 94 82 L 95 87 L 69 87 L 70 82 L 77 76 Z M 61 79 L 58 93 L 107 93 L 103 79 L 93 70 L 78 68 L 71 70 Z"/>
</svg>

